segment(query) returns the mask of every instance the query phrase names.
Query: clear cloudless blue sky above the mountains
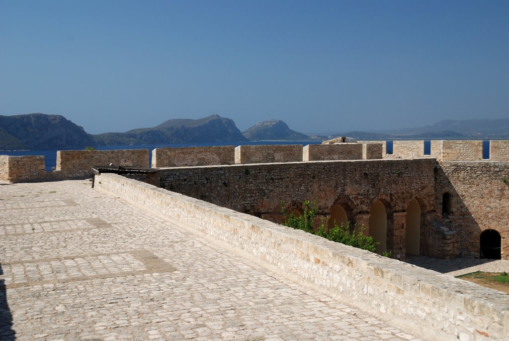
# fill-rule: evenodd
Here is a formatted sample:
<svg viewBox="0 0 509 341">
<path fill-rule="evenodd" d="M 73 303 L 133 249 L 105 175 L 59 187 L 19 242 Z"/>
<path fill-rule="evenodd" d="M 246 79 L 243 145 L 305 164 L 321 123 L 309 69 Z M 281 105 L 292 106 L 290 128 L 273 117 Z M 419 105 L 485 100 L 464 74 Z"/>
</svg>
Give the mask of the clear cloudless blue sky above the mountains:
<svg viewBox="0 0 509 341">
<path fill-rule="evenodd" d="M 509 1 L 4 1 L 0 115 L 304 133 L 509 117 Z"/>
</svg>

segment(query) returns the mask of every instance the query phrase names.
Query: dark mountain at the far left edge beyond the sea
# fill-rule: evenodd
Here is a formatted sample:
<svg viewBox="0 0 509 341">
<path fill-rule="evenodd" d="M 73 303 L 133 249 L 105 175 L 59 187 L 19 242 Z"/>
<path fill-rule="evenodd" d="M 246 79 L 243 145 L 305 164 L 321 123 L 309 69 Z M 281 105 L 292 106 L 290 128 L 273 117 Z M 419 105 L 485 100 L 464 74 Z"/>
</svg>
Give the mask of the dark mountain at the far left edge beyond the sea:
<svg viewBox="0 0 509 341">
<path fill-rule="evenodd" d="M 61 115 L 0 116 L 0 150 L 84 147 L 90 134 Z"/>
</svg>

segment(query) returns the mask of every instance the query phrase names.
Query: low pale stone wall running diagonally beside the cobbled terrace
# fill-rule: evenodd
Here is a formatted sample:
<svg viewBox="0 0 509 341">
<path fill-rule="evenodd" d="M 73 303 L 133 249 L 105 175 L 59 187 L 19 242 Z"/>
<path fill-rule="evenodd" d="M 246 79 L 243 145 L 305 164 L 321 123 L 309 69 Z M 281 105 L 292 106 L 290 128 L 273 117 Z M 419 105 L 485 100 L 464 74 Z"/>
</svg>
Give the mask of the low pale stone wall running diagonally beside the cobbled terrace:
<svg viewBox="0 0 509 341">
<path fill-rule="evenodd" d="M 509 296 L 500 292 L 120 175 L 96 175 L 95 186 L 409 332 L 435 340 L 509 336 Z"/>
</svg>

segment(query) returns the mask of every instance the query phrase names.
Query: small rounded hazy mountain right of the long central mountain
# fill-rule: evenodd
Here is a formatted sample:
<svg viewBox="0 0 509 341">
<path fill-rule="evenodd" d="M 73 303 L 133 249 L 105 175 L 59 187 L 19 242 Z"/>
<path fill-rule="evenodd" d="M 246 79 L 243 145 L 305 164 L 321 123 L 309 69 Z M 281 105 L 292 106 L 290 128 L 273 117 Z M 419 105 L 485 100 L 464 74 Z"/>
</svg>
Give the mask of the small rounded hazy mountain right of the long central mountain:
<svg viewBox="0 0 509 341">
<path fill-rule="evenodd" d="M 251 141 L 260 140 L 309 140 L 309 136 L 295 132 L 281 120 L 263 121 L 242 132 Z"/>
</svg>

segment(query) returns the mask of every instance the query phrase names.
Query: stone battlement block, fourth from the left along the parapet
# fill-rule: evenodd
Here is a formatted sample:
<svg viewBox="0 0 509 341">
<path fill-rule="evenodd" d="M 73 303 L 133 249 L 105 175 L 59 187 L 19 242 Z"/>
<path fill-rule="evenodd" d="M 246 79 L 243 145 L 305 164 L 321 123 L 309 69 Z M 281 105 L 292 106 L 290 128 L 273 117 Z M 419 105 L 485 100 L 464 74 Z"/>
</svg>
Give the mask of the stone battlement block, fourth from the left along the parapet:
<svg viewBox="0 0 509 341">
<path fill-rule="evenodd" d="M 236 164 L 302 161 L 302 145 L 246 145 L 235 147 Z"/>
</svg>

